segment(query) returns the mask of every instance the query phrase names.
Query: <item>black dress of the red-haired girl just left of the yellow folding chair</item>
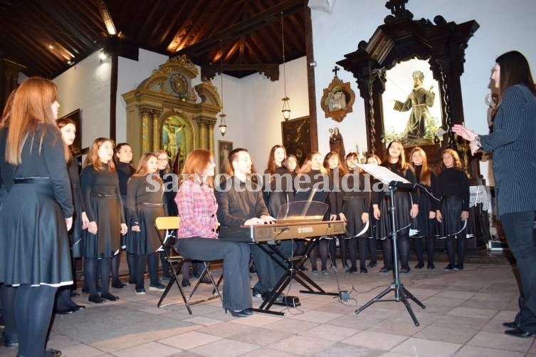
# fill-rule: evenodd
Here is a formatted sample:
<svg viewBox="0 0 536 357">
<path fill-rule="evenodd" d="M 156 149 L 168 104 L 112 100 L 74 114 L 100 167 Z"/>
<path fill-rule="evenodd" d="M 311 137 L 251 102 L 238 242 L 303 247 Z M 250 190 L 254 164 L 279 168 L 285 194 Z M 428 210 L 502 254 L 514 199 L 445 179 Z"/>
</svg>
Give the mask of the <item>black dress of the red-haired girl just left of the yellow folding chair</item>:
<svg viewBox="0 0 536 357">
<path fill-rule="evenodd" d="M 158 190 L 155 190 L 156 184 Z M 160 240 L 154 229 L 154 219 L 164 215 L 162 193 L 162 186 L 152 175 L 130 177 L 127 185 L 128 214 L 132 224 L 138 222 L 140 226 L 140 232 L 131 233 L 127 247 L 130 254 L 147 255 L 159 249 Z"/>
</svg>

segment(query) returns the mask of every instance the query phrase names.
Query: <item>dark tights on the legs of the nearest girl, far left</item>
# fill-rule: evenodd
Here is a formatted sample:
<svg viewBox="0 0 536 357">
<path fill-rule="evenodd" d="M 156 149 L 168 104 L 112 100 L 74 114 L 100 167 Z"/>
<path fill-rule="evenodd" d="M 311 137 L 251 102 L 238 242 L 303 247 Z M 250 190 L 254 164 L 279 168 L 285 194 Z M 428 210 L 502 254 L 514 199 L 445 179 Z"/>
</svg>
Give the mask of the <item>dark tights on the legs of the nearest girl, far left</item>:
<svg viewBox="0 0 536 357">
<path fill-rule="evenodd" d="M 15 315 L 19 356 L 43 356 L 57 288 L 21 285 L 16 288 Z"/>
</svg>

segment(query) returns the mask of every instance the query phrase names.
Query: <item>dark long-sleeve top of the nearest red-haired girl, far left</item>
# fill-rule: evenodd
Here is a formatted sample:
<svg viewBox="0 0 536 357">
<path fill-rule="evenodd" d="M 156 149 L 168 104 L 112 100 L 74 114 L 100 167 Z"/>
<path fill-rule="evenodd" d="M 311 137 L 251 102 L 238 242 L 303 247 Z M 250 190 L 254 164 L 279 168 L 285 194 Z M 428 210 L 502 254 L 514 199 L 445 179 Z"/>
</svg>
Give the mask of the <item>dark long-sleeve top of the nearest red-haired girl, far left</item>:
<svg viewBox="0 0 536 357">
<path fill-rule="evenodd" d="M 43 131 L 43 145 L 40 148 Z M 3 183 L 9 191 L 17 178 L 48 177 L 53 195 L 63 215 L 73 217 L 73 195 L 70 191 L 69 175 L 63 155 L 63 141 L 56 125 L 46 123 L 37 125 L 33 138 L 30 136 L 23 145 L 20 165 L 10 165 L 4 160 L 8 132 L 7 130 L 1 130 L 1 132 L 0 186 Z"/>
</svg>

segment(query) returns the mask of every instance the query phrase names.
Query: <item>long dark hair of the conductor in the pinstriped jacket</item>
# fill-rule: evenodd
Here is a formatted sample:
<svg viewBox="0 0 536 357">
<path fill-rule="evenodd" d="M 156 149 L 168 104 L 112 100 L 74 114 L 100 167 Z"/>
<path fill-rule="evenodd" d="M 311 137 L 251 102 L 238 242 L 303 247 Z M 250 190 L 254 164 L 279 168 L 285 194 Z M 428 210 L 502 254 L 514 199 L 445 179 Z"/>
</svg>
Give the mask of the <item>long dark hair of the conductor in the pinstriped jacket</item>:
<svg viewBox="0 0 536 357">
<path fill-rule="evenodd" d="M 500 67 L 499 103 L 505 91 L 515 84 L 524 84 L 536 97 L 536 87 L 525 56 L 518 51 L 510 51 L 498 56 L 495 62 Z"/>
</svg>

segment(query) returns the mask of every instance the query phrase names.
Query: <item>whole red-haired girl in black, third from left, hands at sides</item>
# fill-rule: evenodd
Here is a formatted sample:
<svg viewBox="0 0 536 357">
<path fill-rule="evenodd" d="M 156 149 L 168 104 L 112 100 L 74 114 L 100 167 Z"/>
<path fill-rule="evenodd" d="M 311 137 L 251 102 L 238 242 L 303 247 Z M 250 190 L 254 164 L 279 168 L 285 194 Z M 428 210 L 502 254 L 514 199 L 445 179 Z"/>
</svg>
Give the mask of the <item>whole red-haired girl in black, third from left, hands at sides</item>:
<svg viewBox="0 0 536 357">
<path fill-rule="evenodd" d="M 85 158 L 80 174 L 88 231 L 84 241 L 84 279 L 88 281 L 89 301 L 101 304 L 105 299 L 116 301 L 110 294 L 111 260 L 119 252 L 120 236 L 127 233 L 119 180 L 113 162 L 114 143 L 98 138 Z M 101 294 L 97 292 L 97 262 L 100 260 Z"/>
</svg>

